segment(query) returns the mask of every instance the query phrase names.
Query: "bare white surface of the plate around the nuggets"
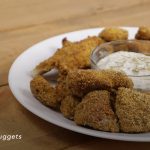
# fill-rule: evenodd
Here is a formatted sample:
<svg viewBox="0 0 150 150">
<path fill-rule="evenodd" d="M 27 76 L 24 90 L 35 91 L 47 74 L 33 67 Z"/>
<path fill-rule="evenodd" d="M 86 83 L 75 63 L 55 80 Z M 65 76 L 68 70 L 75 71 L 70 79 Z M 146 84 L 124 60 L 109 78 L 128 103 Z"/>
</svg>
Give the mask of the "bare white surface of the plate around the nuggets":
<svg viewBox="0 0 150 150">
<path fill-rule="evenodd" d="M 129 39 L 134 38 L 137 28 L 125 28 L 129 31 Z M 9 72 L 9 86 L 16 99 L 29 111 L 35 115 L 51 122 L 60 127 L 108 139 L 124 140 L 124 141 L 150 141 L 150 133 L 142 134 L 124 134 L 124 133 L 109 133 L 87 129 L 77 126 L 73 121 L 70 121 L 48 107 L 45 107 L 36 100 L 30 91 L 30 81 L 32 79 L 31 71 L 42 60 L 54 54 L 57 48 L 61 47 L 61 40 L 67 37 L 70 41 L 78 41 L 86 38 L 88 35 L 98 35 L 102 28 L 94 28 L 70 32 L 55 36 L 44 40 L 22 53 L 13 63 Z"/>
</svg>

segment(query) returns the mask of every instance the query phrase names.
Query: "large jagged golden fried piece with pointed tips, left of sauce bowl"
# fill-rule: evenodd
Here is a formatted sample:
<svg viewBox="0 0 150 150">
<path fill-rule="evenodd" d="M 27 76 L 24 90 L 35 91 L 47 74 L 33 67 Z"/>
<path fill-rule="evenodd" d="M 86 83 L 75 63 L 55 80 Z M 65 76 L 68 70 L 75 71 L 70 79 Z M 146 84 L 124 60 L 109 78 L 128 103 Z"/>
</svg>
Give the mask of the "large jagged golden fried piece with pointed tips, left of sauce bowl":
<svg viewBox="0 0 150 150">
<path fill-rule="evenodd" d="M 91 51 L 104 41 L 96 36 L 88 37 L 80 42 L 63 40 L 63 47 L 49 59 L 41 62 L 34 70 L 33 75 L 43 74 L 57 68 L 62 74 L 70 69 L 89 68 Z"/>
</svg>

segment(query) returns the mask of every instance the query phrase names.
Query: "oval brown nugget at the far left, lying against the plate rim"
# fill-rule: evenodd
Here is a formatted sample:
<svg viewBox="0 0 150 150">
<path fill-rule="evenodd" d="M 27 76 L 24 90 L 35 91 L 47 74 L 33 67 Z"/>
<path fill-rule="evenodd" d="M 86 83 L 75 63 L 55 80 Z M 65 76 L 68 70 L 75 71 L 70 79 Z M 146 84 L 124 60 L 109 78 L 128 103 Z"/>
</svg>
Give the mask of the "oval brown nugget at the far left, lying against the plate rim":
<svg viewBox="0 0 150 150">
<path fill-rule="evenodd" d="M 54 109 L 59 108 L 57 101 L 57 93 L 54 87 L 45 80 L 42 76 L 38 75 L 30 82 L 32 94 L 43 104 Z"/>
</svg>

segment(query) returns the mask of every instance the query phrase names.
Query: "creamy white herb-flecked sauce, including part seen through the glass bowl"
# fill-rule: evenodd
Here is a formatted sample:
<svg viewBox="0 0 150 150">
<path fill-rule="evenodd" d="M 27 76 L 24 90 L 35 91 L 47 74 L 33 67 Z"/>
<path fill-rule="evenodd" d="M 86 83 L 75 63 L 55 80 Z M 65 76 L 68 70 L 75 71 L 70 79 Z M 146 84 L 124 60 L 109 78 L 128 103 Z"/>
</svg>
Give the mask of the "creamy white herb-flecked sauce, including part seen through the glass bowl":
<svg viewBox="0 0 150 150">
<path fill-rule="evenodd" d="M 97 66 L 100 69 L 124 71 L 132 79 L 135 89 L 150 90 L 150 56 L 119 51 L 101 59 Z"/>
</svg>

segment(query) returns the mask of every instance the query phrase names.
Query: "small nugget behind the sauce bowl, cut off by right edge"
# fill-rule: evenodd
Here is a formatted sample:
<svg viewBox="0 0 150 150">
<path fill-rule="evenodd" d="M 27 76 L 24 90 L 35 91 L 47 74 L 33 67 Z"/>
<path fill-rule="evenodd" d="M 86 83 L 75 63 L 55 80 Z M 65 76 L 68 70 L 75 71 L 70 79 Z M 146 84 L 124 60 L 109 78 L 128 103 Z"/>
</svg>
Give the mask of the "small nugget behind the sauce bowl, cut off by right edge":
<svg viewBox="0 0 150 150">
<path fill-rule="evenodd" d="M 135 38 L 138 40 L 150 40 L 150 27 L 139 27 Z"/>
</svg>

